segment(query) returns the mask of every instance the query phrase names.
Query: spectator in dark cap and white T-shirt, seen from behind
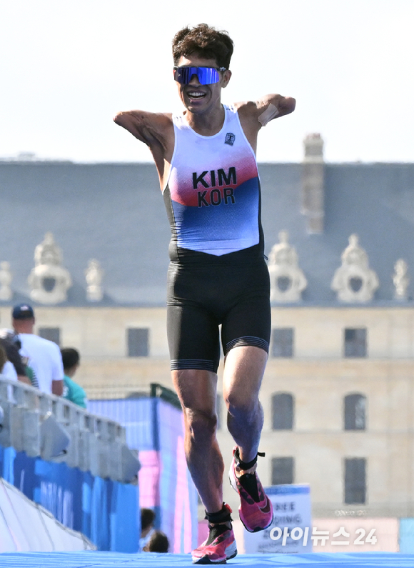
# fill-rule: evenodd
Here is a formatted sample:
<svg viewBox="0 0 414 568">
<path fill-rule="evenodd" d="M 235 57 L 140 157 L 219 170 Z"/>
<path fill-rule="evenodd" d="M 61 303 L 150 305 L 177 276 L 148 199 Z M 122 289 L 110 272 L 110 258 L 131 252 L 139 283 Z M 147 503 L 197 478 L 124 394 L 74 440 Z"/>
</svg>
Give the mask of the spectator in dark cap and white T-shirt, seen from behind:
<svg viewBox="0 0 414 568">
<path fill-rule="evenodd" d="M 39 389 L 61 396 L 64 392 L 64 366 L 59 347 L 33 333 L 34 311 L 29 304 L 18 304 L 12 312 L 13 328 L 19 334 L 20 354 L 29 359 L 36 373 Z"/>
</svg>

